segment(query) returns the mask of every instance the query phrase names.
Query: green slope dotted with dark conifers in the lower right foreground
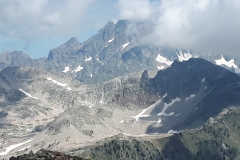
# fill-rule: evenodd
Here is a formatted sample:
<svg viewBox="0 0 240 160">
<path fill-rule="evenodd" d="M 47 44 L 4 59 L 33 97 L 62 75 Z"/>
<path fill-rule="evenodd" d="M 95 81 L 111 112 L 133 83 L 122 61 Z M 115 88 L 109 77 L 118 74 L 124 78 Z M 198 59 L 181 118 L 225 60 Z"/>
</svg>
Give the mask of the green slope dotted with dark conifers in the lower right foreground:
<svg viewBox="0 0 240 160">
<path fill-rule="evenodd" d="M 240 159 L 240 109 L 166 138 L 113 138 L 84 150 L 90 159 Z"/>
</svg>

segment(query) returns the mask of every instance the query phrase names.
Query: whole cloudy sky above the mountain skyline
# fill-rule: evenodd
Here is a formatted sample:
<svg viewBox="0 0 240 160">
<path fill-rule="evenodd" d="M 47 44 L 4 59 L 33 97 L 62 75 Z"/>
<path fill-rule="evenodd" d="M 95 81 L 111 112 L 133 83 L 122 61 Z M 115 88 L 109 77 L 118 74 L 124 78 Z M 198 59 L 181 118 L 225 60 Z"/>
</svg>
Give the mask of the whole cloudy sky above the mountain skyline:
<svg viewBox="0 0 240 160">
<path fill-rule="evenodd" d="M 1 0 L 0 52 L 47 56 L 71 37 L 82 42 L 118 19 L 154 22 L 147 43 L 240 55 L 238 0 Z"/>
</svg>

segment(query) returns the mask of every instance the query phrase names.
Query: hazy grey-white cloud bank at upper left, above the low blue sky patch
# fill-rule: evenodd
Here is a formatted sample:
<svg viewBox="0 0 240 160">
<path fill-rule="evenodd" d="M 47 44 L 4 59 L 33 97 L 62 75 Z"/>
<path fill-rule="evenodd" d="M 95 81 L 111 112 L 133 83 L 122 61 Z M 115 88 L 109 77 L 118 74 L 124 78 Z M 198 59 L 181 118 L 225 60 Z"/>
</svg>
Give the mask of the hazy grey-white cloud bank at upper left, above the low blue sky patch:
<svg viewBox="0 0 240 160">
<path fill-rule="evenodd" d="M 103 5 L 113 11 L 107 0 L 1 0 L 0 34 L 25 41 L 51 36 L 70 38 L 87 29 L 99 29 L 107 18 L 114 18 Z"/>
</svg>

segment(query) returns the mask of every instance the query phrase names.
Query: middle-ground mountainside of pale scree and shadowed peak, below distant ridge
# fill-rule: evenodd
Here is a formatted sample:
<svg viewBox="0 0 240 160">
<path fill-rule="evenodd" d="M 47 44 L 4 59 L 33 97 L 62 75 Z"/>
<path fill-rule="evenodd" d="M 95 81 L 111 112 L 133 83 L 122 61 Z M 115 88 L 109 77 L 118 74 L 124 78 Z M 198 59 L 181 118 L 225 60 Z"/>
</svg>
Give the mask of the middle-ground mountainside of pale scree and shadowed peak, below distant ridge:
<svg viewBox="0 0 240 160">
<path fill-rule="evenodd" d="M 9 67 L 0 82 L 4 157 L 26 148 L 69 152 L 119 133 L 169 135 L 203 125 L 240 99 L 238 75 L 197 58 L 174 61 L 154 78 L 145 71 L 86 85 L 65 73 Z"/>
</svg>

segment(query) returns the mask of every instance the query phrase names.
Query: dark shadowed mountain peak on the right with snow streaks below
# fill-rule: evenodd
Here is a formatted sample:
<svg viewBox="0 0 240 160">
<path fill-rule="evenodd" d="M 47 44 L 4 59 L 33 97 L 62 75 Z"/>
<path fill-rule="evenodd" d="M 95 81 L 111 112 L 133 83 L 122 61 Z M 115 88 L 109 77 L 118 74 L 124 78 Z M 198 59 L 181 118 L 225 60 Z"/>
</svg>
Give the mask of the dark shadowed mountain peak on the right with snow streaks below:
<svg viewBox="0 0 240 160">
<path fill-rule="evenodd" d="M 148 132 L 194 128 L 222 109 L 240 104 L 240 77 L 204 59 L 174 61 L 152 79 L 144 72 L 141 80 L 145 92 L 163 97 L 151 115 L 162 114 L 166 125 L 150 126 Z M 168 128 L 171 123 L 173 126 Z"/>
</svg>

